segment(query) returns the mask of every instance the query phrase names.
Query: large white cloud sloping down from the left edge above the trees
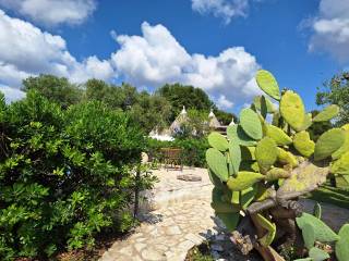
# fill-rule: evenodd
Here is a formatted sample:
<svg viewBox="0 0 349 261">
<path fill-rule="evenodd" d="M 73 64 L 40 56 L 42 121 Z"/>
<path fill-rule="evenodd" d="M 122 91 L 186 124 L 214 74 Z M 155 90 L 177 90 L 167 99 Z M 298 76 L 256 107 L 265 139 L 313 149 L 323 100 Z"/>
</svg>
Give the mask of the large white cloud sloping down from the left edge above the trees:
<svg viewBox="0 0 349 261">
<path fill-rule="evenodd" d="M 113 69 L 96 57 L 77 62 L 61 36 L 43 32 L 0 10 L 0 84 L 19 87 L 23 78 L 40 73 L 81 83 L 91 77 L 108 79 Z"/>
</svg>

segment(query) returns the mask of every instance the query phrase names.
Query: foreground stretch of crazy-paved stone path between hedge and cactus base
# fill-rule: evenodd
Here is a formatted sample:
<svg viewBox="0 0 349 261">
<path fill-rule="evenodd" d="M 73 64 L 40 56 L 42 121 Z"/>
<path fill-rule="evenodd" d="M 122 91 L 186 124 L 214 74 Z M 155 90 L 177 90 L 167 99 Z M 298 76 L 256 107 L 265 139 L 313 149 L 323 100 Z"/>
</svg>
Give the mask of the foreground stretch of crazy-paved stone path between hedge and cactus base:
<svg viewBox="0 0 349 261">
<path fill-rule="evenodd" d="M 127 240 L 116 241 L 100 261 L 182 261 L 195 245 L 217 233 L 209 198 L 191 199 L 151 213 Z"/>
</svg>

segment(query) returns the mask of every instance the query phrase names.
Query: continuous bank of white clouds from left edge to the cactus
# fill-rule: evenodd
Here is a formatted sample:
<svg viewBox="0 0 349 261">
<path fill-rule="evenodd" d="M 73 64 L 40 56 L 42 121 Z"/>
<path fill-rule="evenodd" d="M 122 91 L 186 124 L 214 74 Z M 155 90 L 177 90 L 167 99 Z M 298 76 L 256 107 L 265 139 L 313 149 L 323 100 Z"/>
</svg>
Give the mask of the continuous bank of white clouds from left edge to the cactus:
<svg viewBox="0 0 349 261">
<path fill-rule="evenodd" d="M 258 91 L 253 77 L 260 65 L 242 47 L 228 48 L 216 57 L 191 54 L 165 26 L 146 22 L 141 36 L 112 35 L 120 48 L 110 59 L 93 55 L 77 61 L 61 36 L 0 10 L 0 90 L 9 100 L 21 98 L 22 79 L 48 73 L 74 83 L 122 77 L 141 88 L 193 85 L 210 94 L 220 108 L 231 108 L 233 100 Z"/>
</svg>

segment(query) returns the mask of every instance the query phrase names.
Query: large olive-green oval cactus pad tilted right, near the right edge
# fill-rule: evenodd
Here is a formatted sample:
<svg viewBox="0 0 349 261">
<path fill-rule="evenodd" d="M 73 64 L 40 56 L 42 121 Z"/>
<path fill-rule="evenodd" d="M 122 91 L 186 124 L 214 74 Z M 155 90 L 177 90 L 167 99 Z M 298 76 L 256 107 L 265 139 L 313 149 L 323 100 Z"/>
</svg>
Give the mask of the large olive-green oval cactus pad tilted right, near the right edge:
<svg viewBox="0 0 349 261">
<path fill-rule="evenodd" d="M 322 134 L 316 141 L 314 159 L 324 160 L 338 150 L 345 142 L 346 133 L 341 128 L 332 128 Z"/>
</svg>

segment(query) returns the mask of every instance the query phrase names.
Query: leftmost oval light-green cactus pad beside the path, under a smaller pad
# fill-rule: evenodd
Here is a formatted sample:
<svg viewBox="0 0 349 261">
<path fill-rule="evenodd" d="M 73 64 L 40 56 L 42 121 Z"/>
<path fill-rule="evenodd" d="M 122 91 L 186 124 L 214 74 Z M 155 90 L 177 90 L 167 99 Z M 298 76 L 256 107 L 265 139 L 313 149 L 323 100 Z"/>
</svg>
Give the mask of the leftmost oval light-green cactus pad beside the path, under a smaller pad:
<svg viewBox="0 0 349 261">
<path fill-rule="evenodd" d="M 209 169 L 216 174 L 222 182 L 228 181 L 228 169 L 226 157 L 217 149 L 209 148 L 206 151 L 206 161 Z"/>
</svg>

